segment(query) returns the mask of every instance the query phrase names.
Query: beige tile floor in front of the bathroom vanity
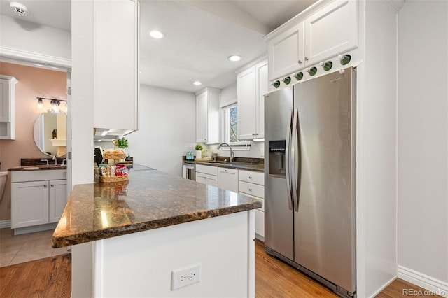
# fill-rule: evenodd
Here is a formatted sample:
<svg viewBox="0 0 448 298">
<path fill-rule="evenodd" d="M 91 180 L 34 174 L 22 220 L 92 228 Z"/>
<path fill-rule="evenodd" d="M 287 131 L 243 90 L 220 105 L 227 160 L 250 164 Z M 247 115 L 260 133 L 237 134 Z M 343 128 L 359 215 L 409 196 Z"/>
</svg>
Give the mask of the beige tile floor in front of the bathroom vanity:
<svg viewBox="0 0 448 298">
<path fill-rule="evenodd" d="M 0 267 L 63 255 L 67 248 L 52 248 L 53 230 L 14 236 L 10 228 L 0 229 Z"/>
</svg>

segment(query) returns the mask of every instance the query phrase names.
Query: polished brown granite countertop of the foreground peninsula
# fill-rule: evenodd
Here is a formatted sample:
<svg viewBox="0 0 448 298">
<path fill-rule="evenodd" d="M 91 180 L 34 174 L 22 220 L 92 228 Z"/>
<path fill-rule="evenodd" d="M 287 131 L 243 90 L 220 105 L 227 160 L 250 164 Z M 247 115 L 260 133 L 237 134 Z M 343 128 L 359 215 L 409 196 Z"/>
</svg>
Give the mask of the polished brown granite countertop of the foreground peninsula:
<svg viewBox="0 0 448 298">
<path fill-rule="evenodd" d="M 262 201 L 161 171 L 130 171 L 125 183 L 76 185 L 53 234 L 71 246 L 248 211 Z"/>
</svg>

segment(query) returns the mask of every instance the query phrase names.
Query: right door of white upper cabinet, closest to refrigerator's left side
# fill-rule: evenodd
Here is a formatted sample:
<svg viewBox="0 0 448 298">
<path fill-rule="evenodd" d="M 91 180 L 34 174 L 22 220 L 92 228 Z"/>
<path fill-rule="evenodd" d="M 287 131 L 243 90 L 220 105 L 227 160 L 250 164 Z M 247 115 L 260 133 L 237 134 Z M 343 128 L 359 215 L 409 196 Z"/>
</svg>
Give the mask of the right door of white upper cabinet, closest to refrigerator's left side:
<svg viewBox="0 0 448 298">
<path fill-rule="evenodd" d="M 256 95 L 255 95 L 255 138 L 265 137 L 265 94 L 269 91 L 267 77 L 267 60 L 255 65 Z"/>
</svg>

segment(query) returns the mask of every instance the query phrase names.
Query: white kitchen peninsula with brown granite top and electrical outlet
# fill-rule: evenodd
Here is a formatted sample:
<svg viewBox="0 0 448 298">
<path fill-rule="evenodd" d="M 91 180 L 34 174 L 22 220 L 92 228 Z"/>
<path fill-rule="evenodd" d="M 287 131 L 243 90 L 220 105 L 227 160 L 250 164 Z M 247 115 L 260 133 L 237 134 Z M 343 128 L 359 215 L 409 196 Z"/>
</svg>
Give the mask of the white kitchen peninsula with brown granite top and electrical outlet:
<svg viewBox="0 0 448 298">
<path fill-rule="evenodd" d="M 53 246 L 72 248 L 72 297 L 254 297 L 261 206 L 161 171 L 131 170 L 128 183 L 76 185 Z M 174 277 L 190 268 L 198 282 Z M 182 288 L 173 290 L 174 281 Z"/>
</svg>

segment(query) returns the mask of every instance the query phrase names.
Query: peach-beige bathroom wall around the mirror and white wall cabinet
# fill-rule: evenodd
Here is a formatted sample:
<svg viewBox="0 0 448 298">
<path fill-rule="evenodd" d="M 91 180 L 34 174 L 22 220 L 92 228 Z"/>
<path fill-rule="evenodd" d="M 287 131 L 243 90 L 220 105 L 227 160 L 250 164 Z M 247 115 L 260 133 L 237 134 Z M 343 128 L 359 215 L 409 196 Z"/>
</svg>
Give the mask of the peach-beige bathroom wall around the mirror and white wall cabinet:
<svg viewBox="0 0 448 298">
<path fill-rule="evenodd" d="M 48 157 L 37 148 L 33 139 L 34 121 L 41 113 L 36 97 L 66 99 L 66 73 L 30 66 L 0 62 L 0 74 L 14 76 L 15 140 L 0 140 L 1 171 L 20 166 L 21 158 Z M 48 104 L 48 103 L 47 103 Z M 0 220 L 10 219 L 10 176 L 0 203 Z"/>
</svg>

